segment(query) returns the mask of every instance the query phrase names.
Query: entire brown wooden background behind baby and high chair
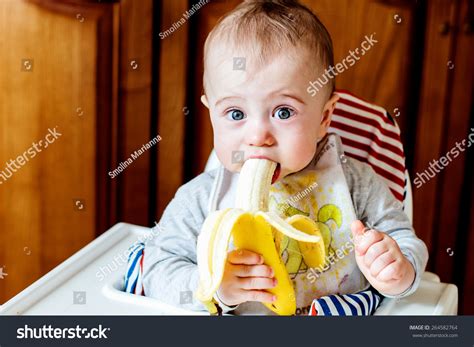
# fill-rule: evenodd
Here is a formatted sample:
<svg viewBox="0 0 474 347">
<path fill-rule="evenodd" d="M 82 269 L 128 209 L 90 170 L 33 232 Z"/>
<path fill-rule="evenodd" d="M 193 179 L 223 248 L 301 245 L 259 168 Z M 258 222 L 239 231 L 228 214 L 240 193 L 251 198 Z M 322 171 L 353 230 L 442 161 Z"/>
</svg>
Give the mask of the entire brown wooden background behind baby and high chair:
<svg viewBox="0 0 474 347">
<path fill-rule="evenodd" d="M 63 132 L 0 186 L 0 303 L 116 222 L 153 225 L 204 169 L 203 43 L 239 1 L 211 1 L 161 39 L 195 2 L 0 0 L 0 170 L 48 128 Z M 396 116 L 412 178 L 472 132 L 472 1 L 302 2 L 331 33 L 336 62 L 376 32 L 379 42 L 336 83 Z M 22 59 L 34 69 L 22 71 Z M 414 188 L 428 270 L 458 286 L 461 314 L 474 314 L 473 159 L 469 148 Z"/>
</svg>

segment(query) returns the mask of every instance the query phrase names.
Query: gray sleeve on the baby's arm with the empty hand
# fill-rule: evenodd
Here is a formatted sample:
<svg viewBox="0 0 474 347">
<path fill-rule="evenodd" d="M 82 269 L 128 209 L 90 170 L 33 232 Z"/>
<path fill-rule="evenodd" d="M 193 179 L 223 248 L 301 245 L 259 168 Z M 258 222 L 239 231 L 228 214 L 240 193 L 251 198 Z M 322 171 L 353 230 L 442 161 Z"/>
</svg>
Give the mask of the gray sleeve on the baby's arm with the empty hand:
<svg viewBox="0 0 474 347">
<path fill-rule="evenodd" d="M 343 169 L 352 192 L 357 218 L 365 225 L 392 237 L 415 269 L 415 280 L 405 292 L 397 296 L 381 294 L 390 298 L 408 296 L 420 284 L 428 262 L 428 249 L 416 236 L 402 204 L 395 199 L 383 179 L 369 165 L 348 159 Z"/>
</svg>

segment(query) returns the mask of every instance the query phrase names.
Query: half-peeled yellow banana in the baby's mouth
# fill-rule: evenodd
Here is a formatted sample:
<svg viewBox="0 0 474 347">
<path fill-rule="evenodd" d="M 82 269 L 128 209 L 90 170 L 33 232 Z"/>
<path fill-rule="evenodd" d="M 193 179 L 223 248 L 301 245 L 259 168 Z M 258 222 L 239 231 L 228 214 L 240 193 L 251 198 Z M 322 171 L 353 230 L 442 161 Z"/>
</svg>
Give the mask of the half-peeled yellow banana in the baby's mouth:
<svg viewBox="0 0 474 347">
<path fill-rule="evenodd" d="M 324 241 L 317 224 L 306 216 L 293 216 L 283 220 L 268 211 L 270 186 L 276 163 L 266 159 L 248 159 L 240 172 L 235 207 L 209 214 L 204 221 L 197 241 L 199 285 L 195 297 L 211 314 L 217 313 L 214 294 L 224 275 L 231 237 L 237 249 L 259 253 L 264 263 L 272 267 L 278 281 L 268 291 L 277 297 L 266 307 L 279 315 L 292 315 L 296 311 L 293 284 L 282 261 L 281 245 L 286 235 L 303 245 L 308 263 L 323 265 Z M 311 251 L 311 252 L 310 252 Z"/>
</svg>

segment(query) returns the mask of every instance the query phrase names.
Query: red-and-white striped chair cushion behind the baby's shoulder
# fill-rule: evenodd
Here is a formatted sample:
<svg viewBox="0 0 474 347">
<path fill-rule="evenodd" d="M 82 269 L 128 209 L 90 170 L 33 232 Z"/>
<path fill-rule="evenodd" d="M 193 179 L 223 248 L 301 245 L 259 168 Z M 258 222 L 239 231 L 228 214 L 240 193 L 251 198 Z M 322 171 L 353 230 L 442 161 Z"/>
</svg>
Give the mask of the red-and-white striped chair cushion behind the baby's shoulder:
<svg viewBox="0 0 474 347">
<path fill-rule="evenodd" d="M 388 112 L 345 90 L 334 110 L 329 131 L 341 137 L 344 153 L 372 166 L 400 202 L 406 195 L 405 154 L 400 128 Z"/>
</svg>

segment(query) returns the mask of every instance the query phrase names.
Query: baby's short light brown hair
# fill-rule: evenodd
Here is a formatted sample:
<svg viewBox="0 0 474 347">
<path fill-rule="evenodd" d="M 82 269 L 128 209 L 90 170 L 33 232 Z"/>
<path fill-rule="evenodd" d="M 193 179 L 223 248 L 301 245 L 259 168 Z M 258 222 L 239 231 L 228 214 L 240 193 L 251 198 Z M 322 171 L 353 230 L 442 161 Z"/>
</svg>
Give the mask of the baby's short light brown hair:
<svg viewBox="0 0 474 347">
<path fill-rule="evenodd" d="M 301 54 L 314 59 L 312 66 L 318 67 L 315 75 L 334 65 L 329 32 L 310 9 L 296 0 L 245 0 L 221 17 L 204 45 L 204 70 L 206 56 L 215 40 L 256 58 L 258 66 L 288 47 L 301 49 Z M 313 76 L 308 76 L 311 79 Z M 327 88 L 330 95 L 334 91 L 334 79 Z"/>
</svg>

